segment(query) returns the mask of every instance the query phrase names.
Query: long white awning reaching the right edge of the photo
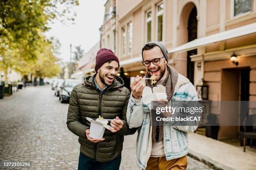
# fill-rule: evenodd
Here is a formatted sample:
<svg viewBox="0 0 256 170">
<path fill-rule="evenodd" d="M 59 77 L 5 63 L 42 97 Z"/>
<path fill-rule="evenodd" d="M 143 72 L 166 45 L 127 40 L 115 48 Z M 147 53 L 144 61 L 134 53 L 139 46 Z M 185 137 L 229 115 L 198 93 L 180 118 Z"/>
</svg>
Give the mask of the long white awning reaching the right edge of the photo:
<svg viewBox="0 0 256 170">
<path fill-rule="evenodd" d="M 179 47 L 173 48 L 172 50 L 168 50 L 168 53 L 194 50 L 197 47 L 210 45 L 215 42 L 220 42 L 223 40 L 228 40 L 231 38 L 240 37 L 240 36 L 252 34 L 255 32 L 256 32 L 256 23 L 252 23 L 242 27 L 234 28 L 232 30 L 227 30 L 217 34 L 195 39 Z"/>
</svg>

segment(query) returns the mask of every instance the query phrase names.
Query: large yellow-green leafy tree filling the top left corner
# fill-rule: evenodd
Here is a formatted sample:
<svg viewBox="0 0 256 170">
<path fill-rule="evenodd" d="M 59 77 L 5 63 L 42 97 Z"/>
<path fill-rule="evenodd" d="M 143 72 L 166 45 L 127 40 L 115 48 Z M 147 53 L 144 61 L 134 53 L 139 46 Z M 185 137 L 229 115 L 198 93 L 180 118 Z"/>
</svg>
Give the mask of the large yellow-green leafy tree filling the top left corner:
<svg viewBox="0 0 256 170">
<path fill-rule="evenodd" d="M 36 63 L 47 41 L 42 35 L 54 19 L 74 21 L 72 7 L 78 0 L 1 0 L 0 69 L 27 72 Z M 60 9 L 63 7 L 63 9 Z M 42 45 L 44 44 L 44 45 Z M 53 61 L 54 62 L 54 61 Z"/>
</svg>

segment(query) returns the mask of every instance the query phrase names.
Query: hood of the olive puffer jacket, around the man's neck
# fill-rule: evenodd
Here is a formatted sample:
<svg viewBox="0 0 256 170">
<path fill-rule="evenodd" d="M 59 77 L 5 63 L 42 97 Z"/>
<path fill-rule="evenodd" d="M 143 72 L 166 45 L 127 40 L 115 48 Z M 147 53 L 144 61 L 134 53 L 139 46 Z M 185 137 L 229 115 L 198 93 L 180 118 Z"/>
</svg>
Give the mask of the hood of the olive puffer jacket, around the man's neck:
<svg viewBox="0 0 256 170">
<path fill-rule="evenodd" d="M 92 76 L 88 76 L 85 77 L 85 83 L 95 87 L 95 83 L 94 83 L 94 79 L 96 77 L 96 73 Z M 124 81 L 121 77 L 119 77 L 118 75 L 115 77 L 115 80 L 113 81 L 113 83 L 108 87 L 108 89 L 112 89 L 112 88 L 120 88 L 124 86 Z"/>
</svg>

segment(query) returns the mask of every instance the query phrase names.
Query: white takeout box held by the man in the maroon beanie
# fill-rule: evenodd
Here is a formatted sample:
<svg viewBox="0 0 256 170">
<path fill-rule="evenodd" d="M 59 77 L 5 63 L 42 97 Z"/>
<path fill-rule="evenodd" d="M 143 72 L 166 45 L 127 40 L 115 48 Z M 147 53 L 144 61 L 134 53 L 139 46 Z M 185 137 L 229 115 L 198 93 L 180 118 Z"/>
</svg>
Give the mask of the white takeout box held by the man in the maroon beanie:
<svg viewBox="0 0 256 170">
<path fill-rule="evenodd" d="M 107 128 L 108 130 L 110 130 L 111 128 L 111 126 L 107 125 L 108 120 L 101 121 L 99 120 L 99 118 L 97 118 L 95 121 L 90 117 L 86 117 L 86 119 L 89 122 L 91 122 L 90 133 L 89 133 L 90 138 L 101 139 L 105 132 L 105 128 Z"/>
</svg>

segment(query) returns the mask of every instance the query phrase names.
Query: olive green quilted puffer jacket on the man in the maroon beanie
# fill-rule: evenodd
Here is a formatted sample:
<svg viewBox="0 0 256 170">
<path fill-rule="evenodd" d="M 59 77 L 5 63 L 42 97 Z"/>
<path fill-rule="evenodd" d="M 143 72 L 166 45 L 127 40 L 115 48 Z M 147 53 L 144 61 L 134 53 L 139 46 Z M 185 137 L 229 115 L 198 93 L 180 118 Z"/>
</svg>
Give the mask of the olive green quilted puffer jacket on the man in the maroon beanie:
<svg viewBox="0 0 256 170">
<path fill-rule="evenodd" d="M 80 152 L 89 158 L 105 163 L 115 159 L 123 149 L 123 135 L 132 135 L 136 129 L 129 129 L 126 122 L 126 110 L 130 98 L 129 90 L 124 87 L 121 77 L 116 77 L 112 85 L 100 95 L 95 88 L 95 75 L 86 77 L 84 84 L 76 85 L 71 92 L 67 127 L 79 136 Z M 105 130 L 104 141 L 92 143 L 87 140 L 85 130 L 90 122 L 85 117 L 96 119 L 99 115 L 105 119 L 118 116 L 123 121 L 123 128 L 117 133 Z"/>
</svg>

